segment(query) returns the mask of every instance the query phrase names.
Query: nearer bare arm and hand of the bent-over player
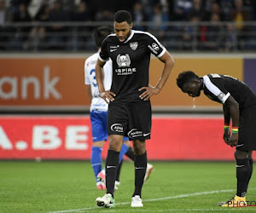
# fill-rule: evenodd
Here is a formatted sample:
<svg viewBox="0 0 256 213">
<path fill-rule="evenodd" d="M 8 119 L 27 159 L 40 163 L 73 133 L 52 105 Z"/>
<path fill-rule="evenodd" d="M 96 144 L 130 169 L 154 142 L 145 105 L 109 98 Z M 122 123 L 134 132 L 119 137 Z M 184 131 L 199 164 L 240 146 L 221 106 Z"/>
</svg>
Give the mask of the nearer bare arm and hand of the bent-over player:
<svg viewBox="0 0 256 213">
<path fill-rule="evenodd" d="M 239 124 L 239 104 L 230 95 L 225 104 L 230 108 L 230 118 L 232 119 L 232 126 L 238 127 Z M 236 146 L 238 143 L 238 133 L 230 135 L 230 145 Z"/>
</svg>

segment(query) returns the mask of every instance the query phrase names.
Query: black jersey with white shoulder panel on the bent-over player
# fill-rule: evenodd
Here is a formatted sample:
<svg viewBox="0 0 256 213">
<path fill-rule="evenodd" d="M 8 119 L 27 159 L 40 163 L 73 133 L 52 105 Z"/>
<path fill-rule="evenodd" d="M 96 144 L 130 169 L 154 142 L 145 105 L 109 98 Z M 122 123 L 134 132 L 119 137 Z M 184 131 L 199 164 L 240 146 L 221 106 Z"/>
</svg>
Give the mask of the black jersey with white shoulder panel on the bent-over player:
<svg viewBox="0 0 256 213">
<path fill-rule="evenodd" d="M 236 78 L 209 74 L 203 77 L 203 85 L 205 95 L 212 101 L 224 104 L 229 96 L 232 95 L 239 104 L 240 111 L 253 105 L 256 106 L 256 95 L 253 90 Z"/>
</svg>

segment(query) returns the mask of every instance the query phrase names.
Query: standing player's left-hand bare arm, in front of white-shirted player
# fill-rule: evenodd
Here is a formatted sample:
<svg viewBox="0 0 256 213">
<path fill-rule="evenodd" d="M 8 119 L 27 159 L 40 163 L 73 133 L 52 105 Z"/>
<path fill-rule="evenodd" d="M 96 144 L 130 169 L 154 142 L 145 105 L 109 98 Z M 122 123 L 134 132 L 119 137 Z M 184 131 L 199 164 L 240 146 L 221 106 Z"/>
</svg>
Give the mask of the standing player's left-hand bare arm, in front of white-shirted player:
<svg viewBox="0 0 256 213">
<path fill-rule="evenodd" d="M 105 88 L 104 88 L 103 74 L 102 74 L 102 68 L 103 68 L 104 65 L 105 65 L 105 62 L 102 62 L 102 60 L 97 60 L 96 68 L 95 68 L 96 81 L 97 81 L 97 84 L 98 84 L 100 96 L 102 97 L 102 99 L 104 101 L 109 103 L 109 101 L 114 100 L 113 97 L 115 96 L 115 94 L 113 92 L 111 92 L 110 90 L 106 91 Z"/>
</svg>

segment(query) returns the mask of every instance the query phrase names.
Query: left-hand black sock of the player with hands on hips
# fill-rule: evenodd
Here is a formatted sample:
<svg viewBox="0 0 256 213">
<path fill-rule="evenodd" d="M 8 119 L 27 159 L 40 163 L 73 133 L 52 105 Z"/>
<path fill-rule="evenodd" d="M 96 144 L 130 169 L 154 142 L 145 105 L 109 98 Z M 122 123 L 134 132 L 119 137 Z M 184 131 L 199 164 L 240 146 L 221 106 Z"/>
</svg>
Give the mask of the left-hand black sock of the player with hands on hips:
<svg viewBox="0 0 256 213">
<path fill-rule="evenodd" d="M 114 181 L 116 176 L 116 170 L 119 166 L 119 152 L 108 150 L 108 156 L 106 159 L 106 187 L 107 193 L 111 193 L 113 196 Z"/>
</svg>

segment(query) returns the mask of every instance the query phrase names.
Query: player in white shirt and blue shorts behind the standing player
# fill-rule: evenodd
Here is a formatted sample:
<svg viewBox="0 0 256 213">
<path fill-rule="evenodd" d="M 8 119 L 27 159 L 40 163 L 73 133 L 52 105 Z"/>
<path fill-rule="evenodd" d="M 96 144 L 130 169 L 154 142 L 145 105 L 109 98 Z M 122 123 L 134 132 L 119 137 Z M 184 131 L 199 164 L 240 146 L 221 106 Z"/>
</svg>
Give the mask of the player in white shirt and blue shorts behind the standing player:
<svg viewBox="0 0 256 213">
<path fill-rule="evenodd" d="M 93 34 L 96 45 L 101 50 L 101 44 L 105 37 L 111 33 L 111 28 L 102 26 L 96 29 Z M 99 52 L 91 55 L 84 63 L 84 77 L 85 84 L 87 85 L 87 93 L 90 97 L 90 123 L 92 130 L 93 146 L 91 150 L 91 166 L 96 177 L 96 186 L 98 189 L 106 189 L 105 185 L 105 172 L 102 170 L 102 147 L 105 141 L 108 140 L 108 125 L 107 114 L 108 104 L 100 97 L 99 89 L 96 83 L 95 66 L 96 60 L 99 57 Z M 103 68 L 104 72 L 104 86 L 110 89 L 112 83 L 112 61 L 108 60 Z M 119 161 L 122 160 L 124 154 L 134 160 L 134 153 L 130 147 L 128 137 L 124 137 L 124 143 L 120 151 Z M 148 176 L 150 175 L 153 166 L 148 164 Z M 147 177 L 148 177 L 147 176 Z M 119 185 L 119 173 L 117 174 L 116 184 Z"/>
</svg>

